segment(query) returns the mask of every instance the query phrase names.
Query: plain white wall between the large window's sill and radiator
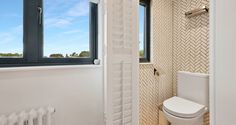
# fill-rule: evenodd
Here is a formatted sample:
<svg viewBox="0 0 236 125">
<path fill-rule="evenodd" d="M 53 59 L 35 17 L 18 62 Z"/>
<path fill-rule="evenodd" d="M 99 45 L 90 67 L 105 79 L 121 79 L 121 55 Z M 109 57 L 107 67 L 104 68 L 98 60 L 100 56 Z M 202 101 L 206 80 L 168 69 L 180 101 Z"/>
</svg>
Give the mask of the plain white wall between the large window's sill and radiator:
<svg viewBox="0 0 236 125">
<path fill-rule="evenodd" d="M 51 105 L 55 125 L 103 125 L 102 66 L 0 69 L 0 115 Z"/>
</svg>

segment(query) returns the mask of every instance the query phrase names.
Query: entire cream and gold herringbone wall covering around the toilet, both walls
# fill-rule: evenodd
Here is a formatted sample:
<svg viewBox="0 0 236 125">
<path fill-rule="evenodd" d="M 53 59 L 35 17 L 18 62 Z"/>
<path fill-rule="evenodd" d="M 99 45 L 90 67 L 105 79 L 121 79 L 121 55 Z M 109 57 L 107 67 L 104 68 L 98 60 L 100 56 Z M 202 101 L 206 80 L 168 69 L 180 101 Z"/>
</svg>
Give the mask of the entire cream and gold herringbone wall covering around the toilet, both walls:
<svg viewBox="0 0 236 125">
<path fill-rule="evenodd" d="M 184 15 L 202 6 L 209 6 L 209 0 L 152 0 L 153 60 L 140 65 L 140 125 L 158 125 L 158 105 L 176 94 L 177 71 L 208 73 L 209 15 Z M 204 125 L 209 125 L 209 114 Z"/>
</svg>

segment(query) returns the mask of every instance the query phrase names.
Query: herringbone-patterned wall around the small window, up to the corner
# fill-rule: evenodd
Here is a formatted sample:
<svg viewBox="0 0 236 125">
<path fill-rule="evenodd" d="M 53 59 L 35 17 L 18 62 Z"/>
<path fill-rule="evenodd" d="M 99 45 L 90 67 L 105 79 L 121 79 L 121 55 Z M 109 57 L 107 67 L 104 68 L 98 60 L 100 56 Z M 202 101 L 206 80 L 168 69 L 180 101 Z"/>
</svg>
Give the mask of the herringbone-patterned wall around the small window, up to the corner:
<svg viewBox="0 0 236 125">
<path fill-rule="evenodd" d="M 158 125 L 158 105 L 172 94 L 172 0 L 152 0 L 152 64 L 140 65 L 140 125 Z M 154 76 L 154 67 L 160 76 Z"/>
</svg>

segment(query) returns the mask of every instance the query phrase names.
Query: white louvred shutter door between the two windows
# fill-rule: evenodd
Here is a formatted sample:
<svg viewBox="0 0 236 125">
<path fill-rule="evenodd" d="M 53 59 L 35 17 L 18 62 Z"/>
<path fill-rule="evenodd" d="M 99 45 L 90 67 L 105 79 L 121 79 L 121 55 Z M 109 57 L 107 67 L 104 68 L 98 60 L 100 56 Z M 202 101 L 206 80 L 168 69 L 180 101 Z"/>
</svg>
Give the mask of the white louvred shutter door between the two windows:
<svg viewBox="0 0 236 125">
<path fill-rule="evenodd" d="M 107 0 L 106 123 L 138 125 L 139 0 Z"/>
</svg>

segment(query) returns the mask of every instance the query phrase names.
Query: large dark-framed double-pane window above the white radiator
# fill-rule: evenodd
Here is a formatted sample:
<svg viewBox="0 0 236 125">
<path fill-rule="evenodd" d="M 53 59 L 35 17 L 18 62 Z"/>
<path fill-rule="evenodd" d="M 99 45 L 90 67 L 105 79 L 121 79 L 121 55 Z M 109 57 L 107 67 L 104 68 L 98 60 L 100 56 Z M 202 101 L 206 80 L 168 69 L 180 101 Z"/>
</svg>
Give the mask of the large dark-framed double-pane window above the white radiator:
<svg viewBox="0 0 236 125">
<path fill-rule="evenodd" d="M 97 4 L 89 0 L 14 1 L 0 4 L 0 66 L 93 64 Z"/>
</svg>

